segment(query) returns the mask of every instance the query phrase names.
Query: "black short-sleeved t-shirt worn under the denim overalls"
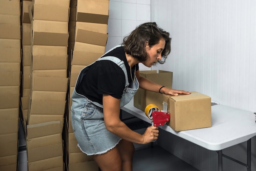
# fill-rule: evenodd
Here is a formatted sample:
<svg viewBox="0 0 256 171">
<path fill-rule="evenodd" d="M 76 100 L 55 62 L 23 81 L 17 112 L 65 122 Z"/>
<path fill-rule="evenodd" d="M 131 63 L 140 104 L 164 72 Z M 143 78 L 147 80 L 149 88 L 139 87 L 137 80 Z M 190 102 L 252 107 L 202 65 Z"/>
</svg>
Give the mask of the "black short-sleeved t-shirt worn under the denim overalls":
<svg viewBox="0 0 256 171">
<path fill-rule="evenodd" d="M 117 47 L 105 56 L 115 56 L 124 61 L 128 80 L 131 82 L 130 67 L 126 60 L 124 47 Z M 136 64 L 136 70 L 139 64 Z M 135 66 L 132 67 L 132 79 L 134 78 Z M 121 98 L 125 88 L 124 71 L 110 60 L 96 61 L 90 66 L 86 74 L 81 78 L 81 82 L 76 86 L 76 92 L 85 95 L 88 99 L 102 104 L 102 95 L 108 94 L 114 98 Z"/>
</svg>

